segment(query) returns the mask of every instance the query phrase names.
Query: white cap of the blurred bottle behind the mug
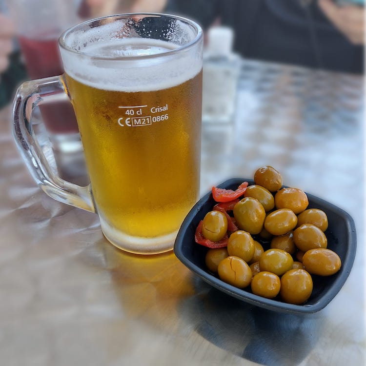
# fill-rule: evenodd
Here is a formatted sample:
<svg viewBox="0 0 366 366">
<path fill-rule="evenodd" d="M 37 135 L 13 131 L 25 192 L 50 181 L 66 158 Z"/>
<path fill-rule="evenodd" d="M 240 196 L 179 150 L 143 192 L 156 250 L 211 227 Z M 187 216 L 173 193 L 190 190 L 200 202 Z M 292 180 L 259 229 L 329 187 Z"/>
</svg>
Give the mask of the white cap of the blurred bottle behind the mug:
<svg viewBox="0 0 366 366">
<path fill-rule="evenodd" d="M 207 51 L 214 55 L 228 55 L 232 52 L 234 31 L 230 27 L 213 26 L 208 30 Z"/>
</svg>

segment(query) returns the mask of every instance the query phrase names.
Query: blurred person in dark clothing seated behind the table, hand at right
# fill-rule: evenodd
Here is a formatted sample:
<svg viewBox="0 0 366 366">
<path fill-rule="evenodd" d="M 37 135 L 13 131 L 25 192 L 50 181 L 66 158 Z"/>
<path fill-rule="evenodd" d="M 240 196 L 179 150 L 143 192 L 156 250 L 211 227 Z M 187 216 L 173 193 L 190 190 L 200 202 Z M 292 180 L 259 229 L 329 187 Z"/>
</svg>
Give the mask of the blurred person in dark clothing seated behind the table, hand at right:
<svg viewBox="0 0 366 366">
<path fill-rule="evenodd" d="M 85 0 L 91 7 L 125 1 Z M 343 0 L 345 1 L 345 0 Z M 364 73 L 365 11 L 335 0 L 134 0 L 131 12 L 166 12 L 221 22 L 235 31 L 243 57 L 346 73 Z"/>
</svg>

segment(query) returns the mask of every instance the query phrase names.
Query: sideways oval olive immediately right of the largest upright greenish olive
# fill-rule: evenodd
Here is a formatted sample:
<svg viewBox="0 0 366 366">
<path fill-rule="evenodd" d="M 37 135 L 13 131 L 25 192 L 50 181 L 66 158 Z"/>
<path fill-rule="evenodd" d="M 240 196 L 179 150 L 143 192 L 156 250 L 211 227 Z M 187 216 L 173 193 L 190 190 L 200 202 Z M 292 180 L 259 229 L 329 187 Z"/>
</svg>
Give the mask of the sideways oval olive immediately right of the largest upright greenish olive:
<svg viewBox="0 0 366 366">
<path fill-rule="evenodd" d="M 267 215 L 264 228 L 272 235 L 284 235 L 296 227 L 297 216 L 289 208 L 280 208 Z"/>
</svg>

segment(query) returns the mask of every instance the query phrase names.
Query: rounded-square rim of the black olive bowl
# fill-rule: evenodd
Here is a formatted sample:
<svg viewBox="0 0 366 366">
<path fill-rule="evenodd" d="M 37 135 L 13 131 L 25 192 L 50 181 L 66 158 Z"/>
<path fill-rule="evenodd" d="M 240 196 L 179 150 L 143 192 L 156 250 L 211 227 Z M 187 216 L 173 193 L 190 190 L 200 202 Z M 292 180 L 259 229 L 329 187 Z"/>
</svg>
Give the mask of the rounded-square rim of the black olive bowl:
<svg viewBox="0 0 366 366">
<path fill-rule="evenodd" d="M 242 182 L 248 182 L 249 185 L 254 184 L 252 179 L 246 178 L 231 178 L 224 181 L 221 184 L 216 185 L 219 188 L 228 188 L 230 186 L 238 186 Z M 285 185 L 283 186 L 285 187 Z M 305 192 L 306 193 L 306 192 Z M 309 203 L 319 203 L 322 206 L 326 206 L 329 208 L 329 211 L 337 214 L 342 217 L 346 223 L 347 233 L 348 233 L 348 241 L 346 243 L 346 255 L 343 259 L 343 265 L 341 267 L 341 273 L 334 280 L 334 283 L 325 290 L 320 299 L 318 299 L 313 304 L 304 304 L 304 305 L 294 305 L 287 304 L 278 300 L 266 299 L 259 295 L 255 295 L 249 291 L 245 291 L 244 289 L 240 289 L 233 285 L 229 285 L 224 283 L 224 281 L 220 280 L 218 277 L 215 277 L 213 274 L 204 270 L 200 266 L 192 263 L 188 258 L 186 258 L 183 246 L 184 246 L 184 236 L 186 231 L 191 228 L 192 223 L 198 220 L 197 218 L 201 214 L 201 216 L 206 213 L 203 212 L 202 206 L 204 203 L 207 203 L 210 200 L 213 200 L 212 193 L 207 192 L 204 194 L 201 199 L 191 208 L 187 216 L 184 218 L 183 223 L 178 231 L 177 238 L 174 244 L 174 253 L 176 257 L 191 271 L 193 271 L 196 275 L 201 277 L 206 283 L 216 287 L 217 289 L 225 292 L 226 294 L 233 296 L 239 300 L 242 300 L 251 305 L 256 305 L 259 307 L 264 307 L 266 309 L 287 312 L 287 313 L 314 313 L 321 309 L 323 309 L 326 305 L 330 303 L 330 301 L 337 295 L 343 285 L 346 283 L 346 280 L 349 276 L 351 268 L 353 266 L 353 262 L 356 255 L 356 247 L 357 247 L 357 235 L 356 228 L 352 217 L 342 208 L 334 205 L 333 203 L 327 202 L 322 198 L 314 196 L 312 194 L 306 193 Z M 197 223 L 198 224 L 198 223 Z M 197 226 L 197 224 L 195 226 Z M 192 243 L 194 242 L 194 238 L 192 237 Z M 199 244 L 197 244 L 199 245 Z"/>
</svg>

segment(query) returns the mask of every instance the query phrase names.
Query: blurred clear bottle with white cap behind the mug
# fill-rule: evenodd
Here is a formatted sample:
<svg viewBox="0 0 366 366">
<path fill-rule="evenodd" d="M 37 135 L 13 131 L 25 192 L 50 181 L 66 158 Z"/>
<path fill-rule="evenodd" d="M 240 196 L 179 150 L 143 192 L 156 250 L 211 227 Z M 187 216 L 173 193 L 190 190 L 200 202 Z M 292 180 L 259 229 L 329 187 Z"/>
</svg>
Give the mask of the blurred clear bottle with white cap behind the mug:
<svg viewBox="0 0 366 366">
<path fill-rule="evenodd" d="M 233 121 L 240 72 L 240 57 L 232 52 L 234 32 L 215 26 L 208 31 L 203 53 L 203 122 Z"/>
</svg>

